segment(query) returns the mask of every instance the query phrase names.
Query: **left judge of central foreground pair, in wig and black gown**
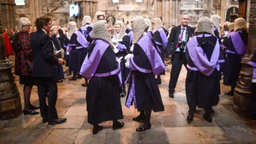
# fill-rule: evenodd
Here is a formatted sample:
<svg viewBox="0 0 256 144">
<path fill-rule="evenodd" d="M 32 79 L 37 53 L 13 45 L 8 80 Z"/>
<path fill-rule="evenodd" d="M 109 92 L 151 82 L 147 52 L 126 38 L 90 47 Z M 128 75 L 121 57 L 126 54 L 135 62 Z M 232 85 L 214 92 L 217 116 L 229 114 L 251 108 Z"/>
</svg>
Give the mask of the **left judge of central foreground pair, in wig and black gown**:
<svg viewBox="0 0 256 144">
<path fill-rule="evenodd" d="M 103 129 L 99 126 L 105 121 L 113 121 L 113 130 L 120 129 L 124 123 L 119 92 L 120 62 L 116 60 L 114 45 L 107 30 L 107 21 L 94 23 L 93 42 L 90 46 L 80 74 L 90 80 L 86 90 L 88 123 L 93 125 L 93 134 Z"/>
</svg>

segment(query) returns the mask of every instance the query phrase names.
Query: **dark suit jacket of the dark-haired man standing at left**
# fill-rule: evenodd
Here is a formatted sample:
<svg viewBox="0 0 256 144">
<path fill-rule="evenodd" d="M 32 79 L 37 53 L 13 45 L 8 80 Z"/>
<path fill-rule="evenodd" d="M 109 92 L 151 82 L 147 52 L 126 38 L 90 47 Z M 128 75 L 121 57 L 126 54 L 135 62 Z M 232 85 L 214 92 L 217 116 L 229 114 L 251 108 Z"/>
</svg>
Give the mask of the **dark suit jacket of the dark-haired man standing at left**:
<svg viewBox="0 0 256 144">
<path fill-rule="evenodd" d="M 34 54 L 32 76 L 54 77 L 57 73 L 58 58 L 53 54 L 49 35 L 38 29 L 31 37 L 30 46 Z"/>
</svg>

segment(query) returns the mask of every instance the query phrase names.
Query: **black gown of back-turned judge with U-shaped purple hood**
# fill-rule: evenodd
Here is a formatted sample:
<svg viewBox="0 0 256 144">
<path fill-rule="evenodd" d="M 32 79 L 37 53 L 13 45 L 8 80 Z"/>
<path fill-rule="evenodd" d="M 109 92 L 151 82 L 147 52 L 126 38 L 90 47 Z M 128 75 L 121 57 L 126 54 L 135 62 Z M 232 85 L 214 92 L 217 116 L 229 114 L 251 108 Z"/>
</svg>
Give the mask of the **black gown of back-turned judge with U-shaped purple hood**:
<svg viewBox="0 0 256 144">
<path fill-rule="evenodd" d="M 210 36 L 207 39 L 211 42 L 217 42 L 217 37 Z M 200 43 L 202 37 L 197 37 L 197 42 Z M 215 46 L 215 44 L 213 44 Z M 207 59 L 210 61 L 214 46 L 209 44 L 202 45 Z M 186 50 L 188 51 L 188 49 Z M 221 50 L 220 50 L 221 51 Z M 189 51 L 188 51 L 189 52 Z M 219 59 L 223 59 L 222 53 L 219 55 Z M 188 58 L 188 65 L 196 67 L 191 60 L 190 55 Z M 186 97 L 188 106 L 192 109 L 198 106 L 198 108 L 207 109 L 212 106 L 217 106 L 219 102 L 220 94 L 220 73 L 215 68 L 210 76 L 206 76 L 201 71 L 188 69 L 186 77 Z"/>
</svg>

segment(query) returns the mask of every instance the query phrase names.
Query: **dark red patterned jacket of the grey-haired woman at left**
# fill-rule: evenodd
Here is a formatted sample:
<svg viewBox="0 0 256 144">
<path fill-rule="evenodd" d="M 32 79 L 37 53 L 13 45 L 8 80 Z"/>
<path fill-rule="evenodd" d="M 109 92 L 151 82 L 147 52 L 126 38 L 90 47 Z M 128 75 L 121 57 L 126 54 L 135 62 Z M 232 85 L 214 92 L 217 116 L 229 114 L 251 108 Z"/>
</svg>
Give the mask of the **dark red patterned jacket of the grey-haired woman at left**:
<svg viewBox="0 0 256 144">
<path fill-rule="evenodd" d="M 29 33 L 18 33 L 17 53 L 15 54 L 15 71 L 17 76 L 30 76 L 31 71 L 28 71 L 28 62 L 33 61 L 33 53 L 30 48 Z"/>
</svg>

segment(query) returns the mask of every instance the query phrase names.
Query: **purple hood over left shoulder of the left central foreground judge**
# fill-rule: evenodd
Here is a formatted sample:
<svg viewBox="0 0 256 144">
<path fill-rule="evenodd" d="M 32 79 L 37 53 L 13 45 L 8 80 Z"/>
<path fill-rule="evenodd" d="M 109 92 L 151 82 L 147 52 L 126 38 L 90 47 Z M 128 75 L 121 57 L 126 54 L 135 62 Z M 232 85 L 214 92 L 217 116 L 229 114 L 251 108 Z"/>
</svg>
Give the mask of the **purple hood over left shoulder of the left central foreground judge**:
<svg viewBox="0 0 256 144">
<path fill-rule="evenodd" d="M 86 77 L 87 79 L 91 79 L 94 76 L 95 71 L 97 70 L 100 60 L 102 58 L 102 55 L 109 46 L 107 42 L 101 39 L 96 40 L 95 43 L 96 44 L 90 55 L 90 58 L 88 58 L 87 54 L 80 70 L 80 75 Z"/>
</svg>

